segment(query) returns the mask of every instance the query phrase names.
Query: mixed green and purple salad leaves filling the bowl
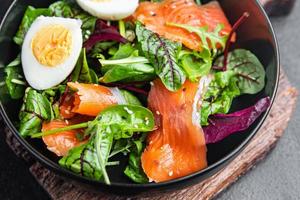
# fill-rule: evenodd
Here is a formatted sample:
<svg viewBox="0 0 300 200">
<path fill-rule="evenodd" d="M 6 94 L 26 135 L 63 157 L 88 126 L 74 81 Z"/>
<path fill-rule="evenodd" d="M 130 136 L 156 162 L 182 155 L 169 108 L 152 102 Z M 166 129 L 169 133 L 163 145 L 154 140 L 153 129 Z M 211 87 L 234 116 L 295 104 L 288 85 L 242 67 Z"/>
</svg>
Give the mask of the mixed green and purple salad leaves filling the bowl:
<svg viewBox="0 0 300 200">
<path fill-rule="evenodd" d="M 265 98 L 253 107 L 227 114 L 235 98 L 257 94 L 264 88 L 265 70 L 250 51 L 226 50 L 232 34 L 222 34 L 222 24 L 211 31 L 207 26 L 167 23 L 167 26 L 198 36 L 201 50 L 196 51 L 160 36 L 139 21 L 104 21 L 83 11 L 76 2 L 62 0 L 49 8 L 28 6 L 14 37 L 20 47 L 39 16 L 82 21 L 84 42 L 74 70 L 61 84 L 36 90 L 24 78 L 19 55 L 5 67 L 5 84 L 1 87 L 5 87 L 12 99 L 23 100 L 18 123 L 22 137 L 44 139 L 76 131 L 80 145 L 59 160 L 62 167 L 76 174 L 110 184 L 106 169 L 118 165 L 119 162 L 112 158 L 123 154 L 128 157 L 124 174 L 136 183 L 149 182 L 141 166 L 141 155 L 146 147 L 147 133 L 157 129 L 146 103 L 155 79 L 160 79 L 170 92 L 178 92 L 186 81 L 197 83 L 202 77 L 211 77 L 198 110 L 199 125 L 203 126 L 207 144 L 247 129 L 270 105 L 269 98 Z M 117 88 L 118 98 L 123 103 L 103 109 L 93 119 L 90 116 L 89 120 L 68 125 L 69 118 L 61 114 L 62 105 L 77 92 L 70 88 L 69 82 Z M 67 110 L 67 114 L 70 111 Z M 55 120 L 66 120 L 67 126 L 43 129 L 43 124 Z"/>
</svg>

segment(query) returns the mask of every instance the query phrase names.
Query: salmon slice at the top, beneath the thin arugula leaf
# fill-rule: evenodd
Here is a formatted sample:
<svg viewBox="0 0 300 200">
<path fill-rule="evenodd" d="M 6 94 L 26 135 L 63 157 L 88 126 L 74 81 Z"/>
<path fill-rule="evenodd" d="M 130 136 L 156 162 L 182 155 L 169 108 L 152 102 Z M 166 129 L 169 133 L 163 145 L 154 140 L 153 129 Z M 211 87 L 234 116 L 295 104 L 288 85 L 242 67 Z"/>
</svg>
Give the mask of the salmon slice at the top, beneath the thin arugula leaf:
<svg viewBox="0 0 300 200">
<path fill-rule="evenodd" d="M 201 40 L 195 33 L 183 28 L 168 26 L 167 23 L 186 24 L 195 27 L 208 27 L 214 31 L 223 24 L 221 36 L 229 35 L 232 27 L 220 4 L 212 1 L 197 5 L 194 0 L 164 0 L 161 3 L 142 2 L 133 14 L 133 19 L 142 22 L 147 29 L 169 40 L 181 42 L 187 48 L 201 51 Z M 235 41 L 235 35 L 232 42 Z"/>
</svg>

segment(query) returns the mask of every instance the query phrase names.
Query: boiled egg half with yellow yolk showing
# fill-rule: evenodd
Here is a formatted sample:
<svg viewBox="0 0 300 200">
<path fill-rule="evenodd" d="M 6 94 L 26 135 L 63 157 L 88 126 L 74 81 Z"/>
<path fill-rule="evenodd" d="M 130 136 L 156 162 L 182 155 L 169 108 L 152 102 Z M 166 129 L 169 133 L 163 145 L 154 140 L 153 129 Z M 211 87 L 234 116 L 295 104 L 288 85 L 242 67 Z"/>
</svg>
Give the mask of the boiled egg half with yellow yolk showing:
<svg viewBox="0 0 300 200">
<path fill-rule="evenodd" d="M 73 71 L 82 49 L 82 22 L 38 17 L 22 46 L 22 66 L 29 85 L 45 90 L 63 82 Z"/>
</svg>

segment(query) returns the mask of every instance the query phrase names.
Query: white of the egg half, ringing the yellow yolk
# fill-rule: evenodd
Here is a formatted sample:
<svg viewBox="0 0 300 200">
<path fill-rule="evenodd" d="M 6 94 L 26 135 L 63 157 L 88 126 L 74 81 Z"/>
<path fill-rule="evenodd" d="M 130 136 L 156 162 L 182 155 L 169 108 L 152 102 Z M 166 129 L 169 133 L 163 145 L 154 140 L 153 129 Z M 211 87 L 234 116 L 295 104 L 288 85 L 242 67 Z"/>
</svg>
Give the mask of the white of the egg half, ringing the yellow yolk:
<svg viewBox="0 0 300 200">
<path fill-rule="evenodd" d="M 36 33 L 48 25 L 61 25 L 72 35 L 70 56 L 57 66 L 42 65 L 34 56 L 31 43 Z M 45 90 L 63 82 L 73 71 L 82 49 L 82 22 L 61 17 L 38 17 L 28 30 L 21 52 L 22 66 L 29 85 L 37 90 Z"/>
</svg>

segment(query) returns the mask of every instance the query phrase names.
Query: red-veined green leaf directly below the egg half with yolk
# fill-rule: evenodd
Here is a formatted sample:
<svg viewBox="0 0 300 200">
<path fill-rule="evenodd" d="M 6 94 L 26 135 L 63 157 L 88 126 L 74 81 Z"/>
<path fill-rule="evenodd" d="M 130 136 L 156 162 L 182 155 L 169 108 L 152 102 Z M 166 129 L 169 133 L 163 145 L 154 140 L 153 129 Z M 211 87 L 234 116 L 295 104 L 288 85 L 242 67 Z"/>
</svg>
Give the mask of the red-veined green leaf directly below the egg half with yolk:
<svg viewBox="0 0 300 200">
<path fill-rule="evenodd" d="M 22 137 L 30 136 L 41 130 L 42 122 L 54 118 L 49 100 L 41 93 L 27 88 L 19 119 L 19 132 Z"/>
</svg>

